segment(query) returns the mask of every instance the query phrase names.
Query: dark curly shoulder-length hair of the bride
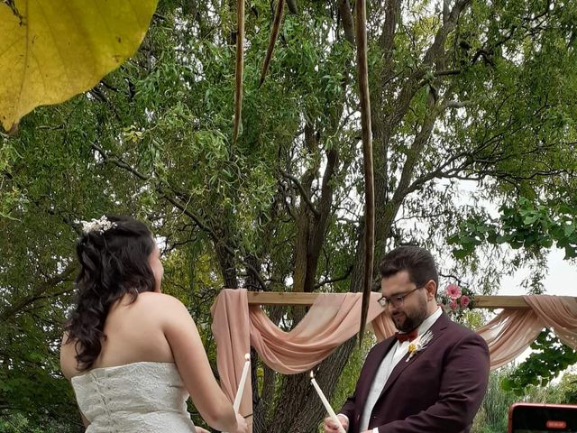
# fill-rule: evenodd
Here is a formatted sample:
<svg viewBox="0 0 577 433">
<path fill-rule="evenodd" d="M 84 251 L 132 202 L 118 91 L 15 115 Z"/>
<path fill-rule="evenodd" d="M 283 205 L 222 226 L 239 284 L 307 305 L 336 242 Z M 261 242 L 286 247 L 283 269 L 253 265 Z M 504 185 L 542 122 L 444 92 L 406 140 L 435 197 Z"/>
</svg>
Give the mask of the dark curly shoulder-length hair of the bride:
<svg viewBox="0 0 577 433">
<path fill-rule="evenodd" d="M 80 272 L 76 279 L 77 305 L 65 325 L 68 342 L 76 348 L 78 369 L 85 371 L 102 350 L 108 311 L 126 293 L 134 301 L 143 291 L 154 290 L 149 256 L 154 240 L 147 226 L 131 217 L 106 216 L 113 223 L 79 239 L 76 251 Z"/>
</svg>

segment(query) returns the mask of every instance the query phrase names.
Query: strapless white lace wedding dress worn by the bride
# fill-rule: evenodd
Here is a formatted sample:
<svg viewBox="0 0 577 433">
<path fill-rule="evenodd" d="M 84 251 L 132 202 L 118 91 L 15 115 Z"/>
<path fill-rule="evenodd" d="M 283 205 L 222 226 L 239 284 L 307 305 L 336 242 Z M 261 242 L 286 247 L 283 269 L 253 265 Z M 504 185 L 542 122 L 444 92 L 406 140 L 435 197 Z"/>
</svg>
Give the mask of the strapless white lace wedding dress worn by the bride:
<svg viewBox="0 0 577 433">
<path fill-rule="evenodd" d="M 87 433 L 190 433 L 188 392 L 176 364 L 95 368 L 72 378 Z"/>
</svg>

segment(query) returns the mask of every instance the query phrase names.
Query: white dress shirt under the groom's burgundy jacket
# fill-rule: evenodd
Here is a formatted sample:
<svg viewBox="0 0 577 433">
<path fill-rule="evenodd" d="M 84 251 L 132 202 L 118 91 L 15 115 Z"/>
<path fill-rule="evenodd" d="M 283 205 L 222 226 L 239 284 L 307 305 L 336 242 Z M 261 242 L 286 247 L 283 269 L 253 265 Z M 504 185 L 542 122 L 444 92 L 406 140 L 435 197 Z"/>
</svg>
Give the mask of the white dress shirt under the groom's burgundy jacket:
<svg viewBox="0 0 577 433">
<path fill-rule="evenodd" d="M 423 320 L 423 323 L 417 327 L 417 335 L 422 336 L 425 334 L 426 331 L 428 331 L 428 329 L 433 326 L 433 324 L 436 322 L 436 319 L 439 318 L 442 313 L 443 310 L 437 308 L 433 314 Z M 365 431 L 369 427 L 371 412 L 375 406 L 375 403 L 377 400 L 379 400 L 380 392 L 382 392 L 382 389 L 384 388 L 385 383 L 387 383 L 390 373 L 393 371 L 395 366 L 403 358 L 403 356 L 407 355 L 409 344 L 409 341 L 404 341 L 403 343 L 397 341 L 397 343 L 395 343 L 390 348 L 387 355 L 385 355 L 381 361 L 379 369 L 377 370 L 377 374 L 375 374 L 375 378 L 371 383 L 371 391 L 369 391 L 369 395 L 367 396 L 364 410 L 362 410 L 359 431 Z M 379 428 L 373 428 L 372 433 L 379 433 Z"/>
</svg>

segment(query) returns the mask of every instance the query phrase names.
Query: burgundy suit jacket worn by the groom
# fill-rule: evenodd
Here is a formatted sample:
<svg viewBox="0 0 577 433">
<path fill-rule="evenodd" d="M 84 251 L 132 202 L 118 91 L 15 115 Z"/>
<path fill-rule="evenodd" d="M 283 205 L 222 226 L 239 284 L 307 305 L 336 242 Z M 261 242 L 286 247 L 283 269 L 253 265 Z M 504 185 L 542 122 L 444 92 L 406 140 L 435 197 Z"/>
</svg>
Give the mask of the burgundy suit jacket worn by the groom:
<svg viewBox="0 0 577 433">
<path fill-rule="evenodd" d="M 442 314 L 430 328 L 433 339 L 407 362 L 405 355 L 390 373 L 371 412 L 369 429 L 379 433 L 466 433 L 481 406 L 489 381 L 485 340 Z M 348 433 L 359 422 L 380 362 L 395 337 L 375 345 L 353 396 L 341 413 L 349 417 Z"/>
</svg>

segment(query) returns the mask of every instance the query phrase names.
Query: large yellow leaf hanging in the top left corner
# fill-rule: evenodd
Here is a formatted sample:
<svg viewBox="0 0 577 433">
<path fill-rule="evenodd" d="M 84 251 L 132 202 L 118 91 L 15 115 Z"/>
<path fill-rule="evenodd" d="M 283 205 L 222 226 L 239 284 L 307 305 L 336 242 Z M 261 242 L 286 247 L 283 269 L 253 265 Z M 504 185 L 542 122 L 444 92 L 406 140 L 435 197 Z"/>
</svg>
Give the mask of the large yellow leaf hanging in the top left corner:
<svg viewBox="0 0 577 433">
<path fill-rule="evenodd" d="M 0 120 L 96 86 L 132 56 L 158 0 L 0 2 Z"/>
</svg>

